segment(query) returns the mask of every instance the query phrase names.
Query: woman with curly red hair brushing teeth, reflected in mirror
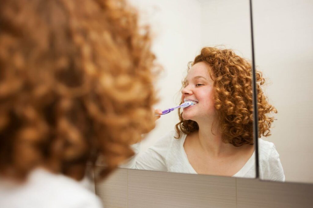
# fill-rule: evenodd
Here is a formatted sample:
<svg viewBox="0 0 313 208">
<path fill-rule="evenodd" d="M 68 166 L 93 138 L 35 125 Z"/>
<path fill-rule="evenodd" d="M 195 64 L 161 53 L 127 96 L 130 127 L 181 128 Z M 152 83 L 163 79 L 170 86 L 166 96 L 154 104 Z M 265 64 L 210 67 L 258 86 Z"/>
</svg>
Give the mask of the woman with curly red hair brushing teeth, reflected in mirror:
<svg viewBox="0 0 313 208">
<path fill-rule="evenodd" d="M 259 137 L 270 136 L 277 113 L 264 96 L 264 78 L 257 72 Z M 188 64 L 182 82 L 179 123 L 140 157 L 133 168 L 255 177 L 251 64 L 230 49 L 205 47 Z M 159 110 L 156 113 L 160 113 Z M 260 178 L 284 181 L 273 143 L 259 138 Z M 136 149 L 136 145 L 134 145 Z"/>
</svg>

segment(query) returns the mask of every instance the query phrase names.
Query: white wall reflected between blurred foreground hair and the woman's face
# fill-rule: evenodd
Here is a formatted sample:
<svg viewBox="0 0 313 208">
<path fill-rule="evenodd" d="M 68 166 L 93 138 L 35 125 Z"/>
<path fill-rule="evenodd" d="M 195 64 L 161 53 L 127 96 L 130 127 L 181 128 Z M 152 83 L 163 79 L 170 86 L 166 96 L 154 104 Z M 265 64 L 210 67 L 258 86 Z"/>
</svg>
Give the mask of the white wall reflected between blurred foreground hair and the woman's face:
<svg viewBox="0 0 313 208">
<path fill-rule="evenodd" d="M 160 102 L 155 108 L 168 109 L 179 104 L 181 81 L 201 48 L 200 2 L 198 0 L 131 0 L 139 9 L 141 22 L 153 32 L 152 50 L 163 66 L 156 87 Z M 141 152 L 174 129 L 178 114 L 172 112 L 157 120 L 156 128 L 141 142 Z"/>
</svg>

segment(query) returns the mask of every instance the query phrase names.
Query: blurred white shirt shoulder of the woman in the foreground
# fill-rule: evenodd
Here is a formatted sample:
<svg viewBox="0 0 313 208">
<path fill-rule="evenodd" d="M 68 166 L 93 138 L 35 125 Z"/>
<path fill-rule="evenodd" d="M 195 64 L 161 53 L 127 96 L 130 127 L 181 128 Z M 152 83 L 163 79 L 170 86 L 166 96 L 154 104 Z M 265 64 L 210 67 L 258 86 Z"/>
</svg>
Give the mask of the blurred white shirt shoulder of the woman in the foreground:
<svg viewBox="0 0 313 208">
<path fill-rule="evenodd" d="M 79 182 L 42 168 L 33 170 L 23 184 L 0 178 L 2 208 L 100 208 L 95 193 Z"/>
</svg>

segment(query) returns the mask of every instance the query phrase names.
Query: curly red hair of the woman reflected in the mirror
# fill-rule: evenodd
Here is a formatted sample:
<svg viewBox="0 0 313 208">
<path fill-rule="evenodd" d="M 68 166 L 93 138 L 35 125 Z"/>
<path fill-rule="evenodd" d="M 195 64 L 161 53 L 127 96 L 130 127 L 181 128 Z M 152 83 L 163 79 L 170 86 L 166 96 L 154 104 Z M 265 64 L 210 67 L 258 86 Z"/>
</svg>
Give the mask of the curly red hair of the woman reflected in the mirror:
<svg viewBox="0 0 313 208">
<path fill-rule="evenodd" d="M 199 62 L 205 62 L 211 67 L 210 75 L 214 81 L 214 107 L 219 121 L 219 130 L 224 143 L 234 146 L 253 144 L 253 105 L 252 105 L 252 70 L 248 60 L 236 55 L 230 49 L 205 47 L 200 55 L 196 56 L 190 67 Z M 187 77 L 182 81 L 185 85 Z M 264 85 L 262 73 L 257 71 L 257 102 L 259 117 L 259 135 L 270 136 L 271 124 L 274 117 L 269 113 L 277 113 L 274 106 L 270 105 L 261 89 Z M 192 133 L 199 129 L 198 123 L 184 120 L 182 112 L 178 111 L 179 123 L 175 125 L 178 138 L 182 133 Z M 212 128 L 211 128 L 212 129 Z"/>
</svg>

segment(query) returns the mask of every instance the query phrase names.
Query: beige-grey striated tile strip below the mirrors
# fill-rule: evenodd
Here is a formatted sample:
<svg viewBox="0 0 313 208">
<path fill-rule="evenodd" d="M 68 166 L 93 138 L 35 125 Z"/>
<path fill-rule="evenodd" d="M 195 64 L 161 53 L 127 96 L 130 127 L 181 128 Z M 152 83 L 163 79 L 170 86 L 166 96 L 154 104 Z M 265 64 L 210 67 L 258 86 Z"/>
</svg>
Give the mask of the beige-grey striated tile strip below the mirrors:
<svg viewBox="0 0 313 208">
<path fill-rule="evenodd" d="M 313 207 L 313 184 L 119 168 L 97 183 L 104 207 Z"/>
</svg>

